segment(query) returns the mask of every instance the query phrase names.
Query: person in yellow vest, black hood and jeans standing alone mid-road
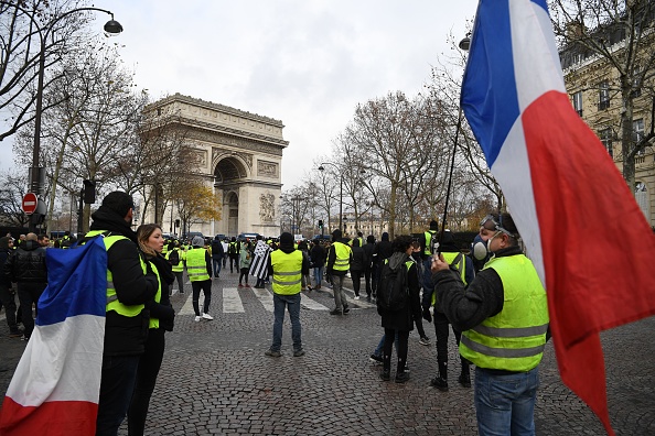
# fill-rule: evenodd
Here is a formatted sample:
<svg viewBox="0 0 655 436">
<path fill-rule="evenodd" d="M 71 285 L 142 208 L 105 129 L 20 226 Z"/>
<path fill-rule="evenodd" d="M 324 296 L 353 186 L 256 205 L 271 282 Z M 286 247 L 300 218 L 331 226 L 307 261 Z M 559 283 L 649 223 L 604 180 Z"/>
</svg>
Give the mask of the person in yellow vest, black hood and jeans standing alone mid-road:
<svg viewBox="0 0 655 436">
<path fill-rule="evenodd" d="M 272 276 L 273 291 L 273 336 L 266 356 L 280 357 L 282 347 L 282 324 L 284 308 L 291 319 L 291 340 L 293 357 L 304 355 L 300 327 L 300 288 L 302 274 L 309 274 L 309 260 L 293 247 L 293 235 L 280 235 L 280 248 L 270 253 L 268 270 Z"/>
</svg>

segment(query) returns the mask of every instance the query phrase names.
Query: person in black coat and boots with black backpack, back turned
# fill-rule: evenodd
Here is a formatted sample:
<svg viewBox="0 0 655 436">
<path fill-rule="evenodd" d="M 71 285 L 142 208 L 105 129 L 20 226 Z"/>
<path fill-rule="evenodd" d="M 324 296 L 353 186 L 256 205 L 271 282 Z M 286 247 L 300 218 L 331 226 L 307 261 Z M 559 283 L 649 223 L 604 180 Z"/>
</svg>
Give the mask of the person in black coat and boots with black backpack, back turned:
<svg viewBox="0 0 655 436">
<path fill-rule="evenodd" d="M 382 326 L 385 329 L 385 345 L 383 352 L 383 372 L 380 378 L 384 381 L 390 380 L 391 371 L 391 349 L 394 338 L 398 335 L 398 363 L 396 366 L 396 383 L 405 383 L 409 380 L 409 372 L 405 371 L 407 363 L 407 346 L 409 340 L 409 333 L 414 330 L 414 323 L 421 317 L 421 302 L 419 292 L 421 285 L 419 283 L 419 275 L 417 272 L 417 264 L 411 258 L 414 250 L 411 246 L 411 237 L 402 235 L 394 240 L 394 253 L 387 260 L 389 268 L 395 270 L 397 268 L 407 268 L 407 286 L 409 299 L 405 307 L 399 310 L 385 310 L 380 307 L 378 298 L 377 312 L 382 316 Z M 378 282 L 379 286 L 385 283 Z"/>
</svg>

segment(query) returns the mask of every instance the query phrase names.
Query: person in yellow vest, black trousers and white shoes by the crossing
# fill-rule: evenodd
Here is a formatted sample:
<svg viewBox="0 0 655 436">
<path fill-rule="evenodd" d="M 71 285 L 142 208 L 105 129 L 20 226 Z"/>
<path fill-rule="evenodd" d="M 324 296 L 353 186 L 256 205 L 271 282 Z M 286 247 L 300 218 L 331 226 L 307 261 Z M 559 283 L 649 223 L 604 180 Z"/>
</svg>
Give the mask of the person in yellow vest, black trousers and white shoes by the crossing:
<svg viewBox="0 0 655 436">
<path fill-rule="evenodd" d="M 201 319 L 212 320 L 210 315 L 210 304 L 212 303 L 212 258 L 205 249 L 205 240 L 202 237 L 194 237 L 191 241 L 193 249 L 186 253 L 186 274 L 191 281 L 193 291 L 193 310 L 195 312 L 195 321 Z M 200 314 L 200 292 L 205 294 L 203 304 L 203 315 Z"/>
</svg>

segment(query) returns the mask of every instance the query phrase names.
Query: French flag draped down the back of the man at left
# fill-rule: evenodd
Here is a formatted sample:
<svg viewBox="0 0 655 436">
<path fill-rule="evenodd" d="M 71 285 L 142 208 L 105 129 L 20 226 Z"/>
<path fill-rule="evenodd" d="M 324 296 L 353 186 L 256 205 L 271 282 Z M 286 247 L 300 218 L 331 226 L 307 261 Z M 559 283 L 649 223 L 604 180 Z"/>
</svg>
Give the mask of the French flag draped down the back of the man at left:
<svg viewBox="0 0 655 436">
<path fill-rule="evenodd" d="M 103 370 L 103 238 L 46 251 L 49 286 L 0 410 L 0 435 L 94 435 Z"/>
</svg>

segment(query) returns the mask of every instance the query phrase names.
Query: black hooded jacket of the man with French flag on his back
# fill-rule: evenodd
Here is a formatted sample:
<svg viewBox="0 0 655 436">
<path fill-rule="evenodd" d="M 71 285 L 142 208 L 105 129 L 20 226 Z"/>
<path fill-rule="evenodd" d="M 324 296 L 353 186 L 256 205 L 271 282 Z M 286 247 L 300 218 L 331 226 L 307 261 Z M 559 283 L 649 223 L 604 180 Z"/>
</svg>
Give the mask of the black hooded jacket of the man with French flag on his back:
<svg viewBox="0 0 655 436">
<path fill-rule="evenodd" d="M 118 301 L 125 305 L 146 304 L 154 297 L 159 282 L 152 272 L 143 274 L 141 259 L 137 248 L 137 235 L 129 224 L 112 210 L 100 206 L 93 214 L 90 230 L 109 231 L 128 239 L 116 241 L 107 251 L 107 269 L 111 272 Z M 148 309 L 140 315 L 126 317 L 107 312 L 105 320 L 105 356 L 141 355 L 148 337 Z"/>
</svg>

